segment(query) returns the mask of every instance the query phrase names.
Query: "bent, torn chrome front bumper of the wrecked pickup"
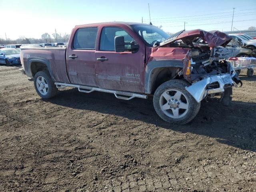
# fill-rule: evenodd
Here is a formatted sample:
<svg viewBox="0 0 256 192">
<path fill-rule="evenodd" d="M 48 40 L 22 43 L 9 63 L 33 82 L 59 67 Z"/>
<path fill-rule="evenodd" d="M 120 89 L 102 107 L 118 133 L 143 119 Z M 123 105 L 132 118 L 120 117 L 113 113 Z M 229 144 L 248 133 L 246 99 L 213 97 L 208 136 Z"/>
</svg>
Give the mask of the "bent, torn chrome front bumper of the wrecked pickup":
<svg viewBox="0 0 256 192">
<path fill-rule="evenodd" d="M 206 86 L 213 82 L 218 82 L 220 85 L 219 88 L 206 89 Z M 207 94 L 224 92 L 224 86 L 226 84 L 234 84 L 234 81 L 232 80 L 232 76 L 230 76 L 230 74 L 221 74 L 204 78 L 203 80 L 195 82 L 191 86 L 186 87 L 186 90 L 199 103 L 206 97 Z"/>
</svg>

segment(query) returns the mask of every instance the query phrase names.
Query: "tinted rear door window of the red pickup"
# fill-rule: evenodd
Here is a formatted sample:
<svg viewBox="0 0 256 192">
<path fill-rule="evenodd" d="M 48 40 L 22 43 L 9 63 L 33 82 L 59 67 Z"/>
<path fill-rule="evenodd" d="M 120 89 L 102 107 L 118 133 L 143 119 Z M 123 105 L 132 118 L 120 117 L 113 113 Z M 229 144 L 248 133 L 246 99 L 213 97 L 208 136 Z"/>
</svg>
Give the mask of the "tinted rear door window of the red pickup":
<svg viewBox="0 0 256 192">
<path fill-rule="evenodd" d="M 97 27 L 80 28 L 76 31 L 73 41 L 75 49 L 95 49 Z"/>
</svg>

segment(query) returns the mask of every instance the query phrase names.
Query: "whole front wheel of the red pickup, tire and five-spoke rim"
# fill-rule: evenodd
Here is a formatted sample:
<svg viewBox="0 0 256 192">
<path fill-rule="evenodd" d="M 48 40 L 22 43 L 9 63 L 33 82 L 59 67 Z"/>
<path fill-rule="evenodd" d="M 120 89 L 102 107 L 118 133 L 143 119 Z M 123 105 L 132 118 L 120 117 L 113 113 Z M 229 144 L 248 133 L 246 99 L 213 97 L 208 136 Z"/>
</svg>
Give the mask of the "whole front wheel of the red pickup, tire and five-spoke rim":
<svg viewBox="0 0 256 192">
<path fill-rule="evenodd" d="M 183 80 L 170 80 L 156 89 L 153 104 L 160 118 L 174 124 L 186 124 L 194 119 L 200 102 L 185 89 L 189 85 Z"/>
</svg>

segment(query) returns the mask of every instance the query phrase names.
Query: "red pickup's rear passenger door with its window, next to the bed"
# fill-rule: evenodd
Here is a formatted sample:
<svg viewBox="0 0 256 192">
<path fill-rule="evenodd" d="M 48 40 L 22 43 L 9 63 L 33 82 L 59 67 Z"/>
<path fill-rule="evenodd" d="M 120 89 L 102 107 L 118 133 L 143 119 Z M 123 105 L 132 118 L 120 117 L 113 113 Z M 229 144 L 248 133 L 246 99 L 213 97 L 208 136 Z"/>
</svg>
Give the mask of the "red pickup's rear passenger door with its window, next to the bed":
<svg viewBox="0 0 256 192">
<path fill-rule="evenodd" d="M 97 86 L 95 42 L 97 27 L 78 28 L 67 48 L 67 72 L 72 84 Z"/>
</svg>

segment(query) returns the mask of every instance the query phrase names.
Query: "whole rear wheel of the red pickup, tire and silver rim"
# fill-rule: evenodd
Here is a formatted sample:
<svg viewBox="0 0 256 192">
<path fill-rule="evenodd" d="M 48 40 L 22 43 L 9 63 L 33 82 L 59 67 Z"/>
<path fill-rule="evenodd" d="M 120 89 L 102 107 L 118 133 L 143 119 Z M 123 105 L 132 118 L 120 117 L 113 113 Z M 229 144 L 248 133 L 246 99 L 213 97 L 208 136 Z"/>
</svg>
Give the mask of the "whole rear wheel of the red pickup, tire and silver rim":
<svg viewBox="0 0 256 192">
<path fill-rule="evenodd" d="M 38 95 L 44 99 L 52 98 L 58 93 L 48 71 L 39 71 L 35 74 L 34 86 Z"/>
</svg>

